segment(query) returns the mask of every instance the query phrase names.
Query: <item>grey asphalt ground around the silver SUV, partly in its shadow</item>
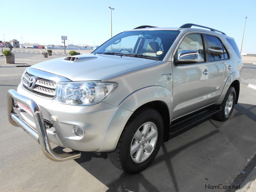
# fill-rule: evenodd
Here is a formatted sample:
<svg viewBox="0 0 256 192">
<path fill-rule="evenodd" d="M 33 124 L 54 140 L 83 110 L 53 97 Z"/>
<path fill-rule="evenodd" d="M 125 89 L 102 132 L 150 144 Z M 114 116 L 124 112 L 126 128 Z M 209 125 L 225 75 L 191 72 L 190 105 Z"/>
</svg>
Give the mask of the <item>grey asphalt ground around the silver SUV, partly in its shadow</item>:
<svg viewBox="0 0 256 192">
<path fill-rule="evenodd" d="M 6 92 L 17 88 L 23 70 L 0 68 L 0 191 L 218 191 L 205 185 L 239 185 L 255 166 L 256 92 L 244 86 L 228 121 L 208 119 L 175 135 L 137 175 L 119 171 L 106 153 L 83 152 L 80 159 L 52 162 L 7 120 Z"/>
</svg>

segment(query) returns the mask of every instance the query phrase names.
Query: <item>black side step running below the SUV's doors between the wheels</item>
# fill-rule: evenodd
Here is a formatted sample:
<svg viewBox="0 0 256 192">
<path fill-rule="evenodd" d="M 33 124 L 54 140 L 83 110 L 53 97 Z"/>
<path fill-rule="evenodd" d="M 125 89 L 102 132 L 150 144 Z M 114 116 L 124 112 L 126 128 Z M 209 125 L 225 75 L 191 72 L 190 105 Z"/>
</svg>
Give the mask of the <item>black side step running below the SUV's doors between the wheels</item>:
<svg viewBox="0 0 256 192">
<path fill-rule="evenodd" d="M 170 126 L 170 133 L 175 133 L 179 131 L 180 129 L 186 128 L 188 126 L 191 126 L 199 121 L 202 121 L 216 113 L 218 113 L 221 110 L 221 107 L 219 106 L 213 106 L 207 109 L 199 110 L 194 113 L 191 113 L 189 115 L 180 117 L 179 119 L 176 119 L 172 122 Z"/>
</svg>

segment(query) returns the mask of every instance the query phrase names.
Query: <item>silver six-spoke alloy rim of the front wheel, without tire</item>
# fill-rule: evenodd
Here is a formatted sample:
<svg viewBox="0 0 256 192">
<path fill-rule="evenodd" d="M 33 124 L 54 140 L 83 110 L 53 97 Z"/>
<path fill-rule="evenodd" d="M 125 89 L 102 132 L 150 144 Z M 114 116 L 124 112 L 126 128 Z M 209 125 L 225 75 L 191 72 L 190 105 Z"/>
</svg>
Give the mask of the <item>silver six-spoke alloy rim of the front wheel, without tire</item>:
<svg viewBox="0 0 256 192">
<path fill-rule="evenodd" d="M 153 122 L 140 126 L 132 138 L 130 154 L 135 163 L 145 161 L 156 147 L 157 127 Z"/>
</svg>

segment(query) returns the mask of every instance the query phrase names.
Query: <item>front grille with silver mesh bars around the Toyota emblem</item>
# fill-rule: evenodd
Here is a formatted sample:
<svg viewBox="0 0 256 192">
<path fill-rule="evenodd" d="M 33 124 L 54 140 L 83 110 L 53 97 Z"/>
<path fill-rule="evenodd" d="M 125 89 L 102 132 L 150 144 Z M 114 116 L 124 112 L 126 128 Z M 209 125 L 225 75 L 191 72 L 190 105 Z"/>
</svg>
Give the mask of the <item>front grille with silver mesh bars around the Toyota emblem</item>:
<svg viewBox="0 0 256 192">
<path fill-rule="evenodd" d="M 53 98 L 55 96 L 56 82 L 36 77 L 33 89 L 29 89 L 28 80 L 31 76 L 33 75 L 25 73 L 22 78 L 22 84 L 25 89 L 48 98 Z"/>
</svg>

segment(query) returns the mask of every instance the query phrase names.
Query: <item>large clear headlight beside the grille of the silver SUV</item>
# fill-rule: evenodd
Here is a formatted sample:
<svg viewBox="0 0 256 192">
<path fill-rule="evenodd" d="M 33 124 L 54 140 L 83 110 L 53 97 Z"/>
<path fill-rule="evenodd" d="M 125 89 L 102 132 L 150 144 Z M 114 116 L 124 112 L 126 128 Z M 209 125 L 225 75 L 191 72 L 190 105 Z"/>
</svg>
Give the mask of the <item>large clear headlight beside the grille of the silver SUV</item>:
<svg viewBox="0 0 256 192">
<path fill-rule="evenodd" d="M 95 105 L 107 97 L 116 83 L 92 82 L 58 82 L 54 101 L 69 105 Z"/>
</svg>

